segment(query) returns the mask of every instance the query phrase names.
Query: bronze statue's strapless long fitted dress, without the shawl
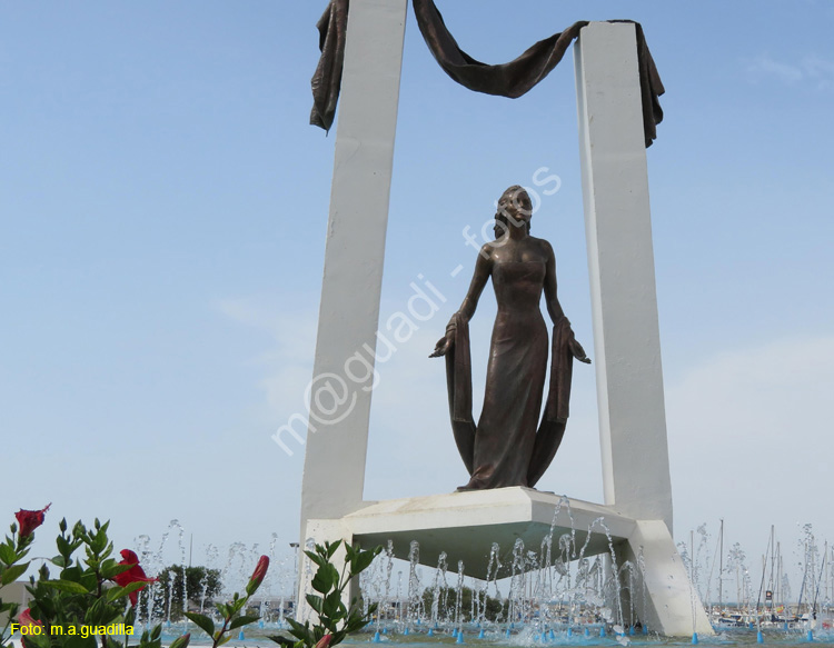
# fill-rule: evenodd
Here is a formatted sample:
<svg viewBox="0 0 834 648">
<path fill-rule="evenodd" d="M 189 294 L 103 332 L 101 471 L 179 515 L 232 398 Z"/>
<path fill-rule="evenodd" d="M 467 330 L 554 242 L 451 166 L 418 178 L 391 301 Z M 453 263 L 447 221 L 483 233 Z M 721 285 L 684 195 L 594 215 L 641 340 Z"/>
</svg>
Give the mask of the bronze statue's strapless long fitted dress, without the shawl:
<svg viewBox="0 0 834 648">
<path fill-rule="evenodd" d="M 493 268 L 498 315 L 473 473 L 465 488 L 527 486 L 547 373 L 547 326 L 539 308 L 544 280 L 544 262 L 500 262 Z"/>
</svg>

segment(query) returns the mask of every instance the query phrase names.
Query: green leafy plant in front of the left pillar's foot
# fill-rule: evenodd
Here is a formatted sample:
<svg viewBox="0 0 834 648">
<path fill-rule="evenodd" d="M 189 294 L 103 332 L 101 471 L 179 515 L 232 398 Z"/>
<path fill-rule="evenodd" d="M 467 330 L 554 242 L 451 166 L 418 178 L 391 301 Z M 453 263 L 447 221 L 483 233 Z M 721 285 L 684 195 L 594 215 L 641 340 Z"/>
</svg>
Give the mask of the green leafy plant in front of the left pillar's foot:
<svg viewBox="0 0 834 648">
<path fill-rule="evenodd" d="M 290 626 L 289 634 L 294 637 L 271 636 L 272 641 L 285 646 L 285 648 L 326 648 L 339 644 L 350 632 L 363 629 L 370 622 L 377 610 L 377 605 L 368 606 L 367 612 L 363 612 L 356 598 L 349 606 L 344 602 L 344 592 L 350 580 L 367 569 L 374 561 L 381 547 L 361 550 L 345 542 L 345 562 L 341 570 L 331 562 L 341 541 L 325 542 L 316 545 L 312 551 L 305 555 L 318 567 L 310 581 L 316 594 L 307 595 L 307 602 L 316 610 L 318 620 L 310 625 L 304 625 L 292 619 L 287 619 Z"/>
</svg>

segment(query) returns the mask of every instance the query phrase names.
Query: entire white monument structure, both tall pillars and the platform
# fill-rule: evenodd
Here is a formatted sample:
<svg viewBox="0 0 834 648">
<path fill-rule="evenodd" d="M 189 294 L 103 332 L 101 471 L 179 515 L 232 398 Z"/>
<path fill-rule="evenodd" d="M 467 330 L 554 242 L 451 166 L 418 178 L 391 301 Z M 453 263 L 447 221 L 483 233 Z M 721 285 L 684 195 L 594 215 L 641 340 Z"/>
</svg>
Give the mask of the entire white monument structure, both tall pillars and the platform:
<svg viewBox="0 0 834 648">
<path fill-rule="evenodd" d="M 339 387 L 347 385 L 342 376 L 354 376 L 360 350 L 376 346 L 406 9 L 407 0 L 350 1 L 310 383 L 324 396 L 317 391 L 310 397 L 300 541 L 345 539 L 371 546 L 390 539 L 395 554 L 406 558 L 410 541 L 417 540 L 424 565 L 434 567 L 446 551 L 453 570 L 463 560 L 466 574 L 483 578 L 493 542 L 512 552 L 520 538 L 527 549 L 537 550 L 562 506 L 553 526 L 555 542 L 573 528 L 577 550 L 589 536 L 585 556 L 608 554 L 613 547 L 615 561 L 643 566 L 645 597 L 632 595 L 632 601 L 652 631 L 712 634 L 671 536 L 634 24 L 593 22 L 575 46 L 605 505 L 568 500 L 572 525 L 562 498 L 520 487 L 363 501 L 373 389 L 364 385 L 344 393 Z M 374 353 L 364 357 L 370 376 L 374 362 L 367 358 Z M 334 401 L 347 411 L 337 411 Z M 605 528 L 596 521 L 600 517 Z M 310 574 L 301 558 L 300 620 Z"/>
</svg>

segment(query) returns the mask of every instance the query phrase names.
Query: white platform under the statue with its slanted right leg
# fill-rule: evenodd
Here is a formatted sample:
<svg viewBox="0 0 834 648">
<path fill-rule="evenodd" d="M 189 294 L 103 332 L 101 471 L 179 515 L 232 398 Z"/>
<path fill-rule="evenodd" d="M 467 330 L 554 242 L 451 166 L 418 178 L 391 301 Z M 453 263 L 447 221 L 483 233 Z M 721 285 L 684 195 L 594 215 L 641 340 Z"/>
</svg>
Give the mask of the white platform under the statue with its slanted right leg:
<svg viewBox="0 0 834 648">
<path fill-rule="evenodd" d="M 538 552 L 542 540 L 553 534 L 557 556 L 559 538 L 573 532 L 573 559 L 613 551 L 618 567 L 631 560 L 642 572 L 643 582 L 632 598 L 636 618 L 649 631 L 713 634 L 665 522 L 635 520 L 613 507 L 513 487 L 365 502 L 340 519 L 308 520 L 305 531 L 319 544 L 344 539 L 367 548 L 391 540 L 394 555 L 406 560 L 416 540 L 421 565 L 436 567 L 445 551 L 450 571 L 457 571 L 460 560 L 467 576 L 480 579 L 487 577 L 493 542 L 500 546 L 499 559 L 507 566 L 517 539 L 526 550 Z M 301 574 L 307 569 L 304 560 Z M 645 596 L 638 594 L 642 588 Z"/>
</svg>

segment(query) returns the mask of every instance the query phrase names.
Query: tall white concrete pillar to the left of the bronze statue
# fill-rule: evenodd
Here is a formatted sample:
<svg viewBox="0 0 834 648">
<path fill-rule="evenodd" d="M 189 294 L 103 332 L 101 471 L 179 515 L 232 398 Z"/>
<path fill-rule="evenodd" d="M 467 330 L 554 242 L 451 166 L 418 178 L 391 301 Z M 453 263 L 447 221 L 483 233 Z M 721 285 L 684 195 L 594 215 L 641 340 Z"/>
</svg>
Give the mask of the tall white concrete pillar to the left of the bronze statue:
<svg viewBox="0 0 834 648">
<path fill-rule="evenodd" d="M 350 1 L 301 486 L 302 535 L 306 520 L 340 518 L 363 501 L 368 362 L 373 367 L 379 321 L 406 7 L 406 0 Z"/>
</svg>

